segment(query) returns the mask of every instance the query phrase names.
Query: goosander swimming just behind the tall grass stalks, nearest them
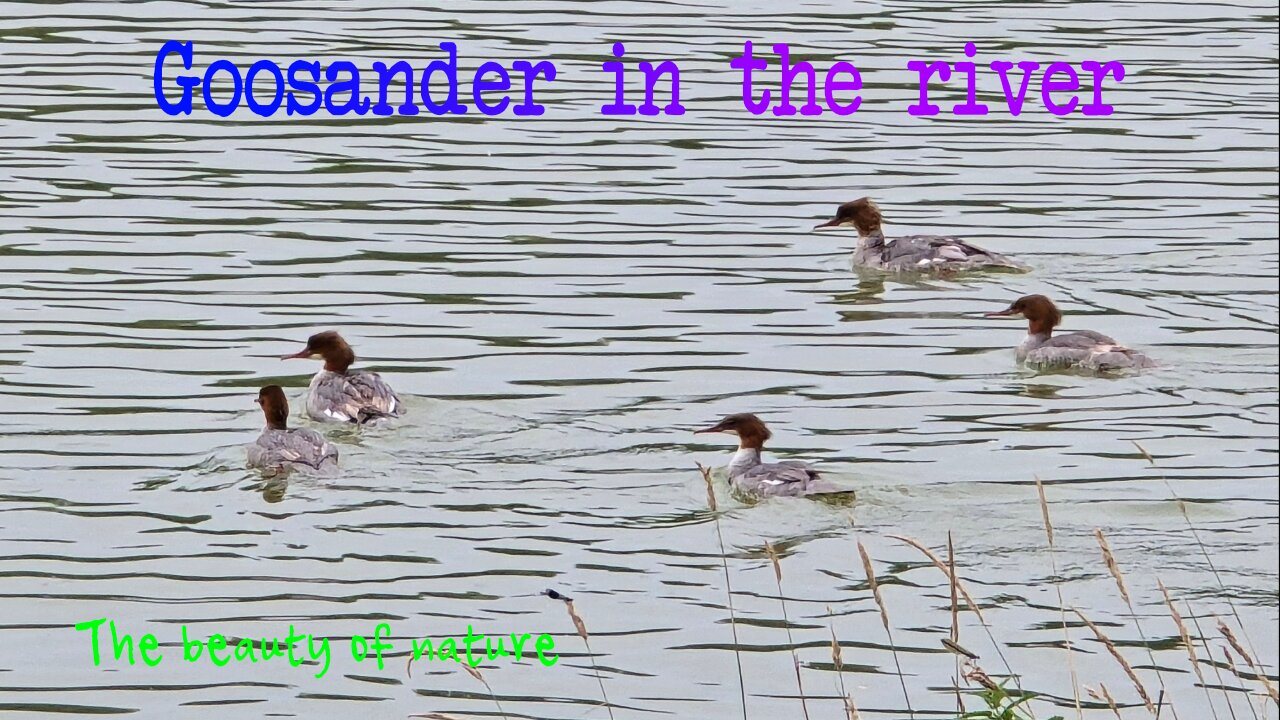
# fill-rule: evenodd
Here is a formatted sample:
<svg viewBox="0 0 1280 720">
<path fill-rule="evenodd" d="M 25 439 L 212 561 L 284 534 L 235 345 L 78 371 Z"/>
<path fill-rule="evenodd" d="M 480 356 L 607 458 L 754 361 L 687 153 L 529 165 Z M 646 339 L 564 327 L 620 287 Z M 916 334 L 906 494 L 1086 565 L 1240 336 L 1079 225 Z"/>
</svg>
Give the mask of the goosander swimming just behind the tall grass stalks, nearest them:
<svg viewBox="0 0 1280 720">
<path fill-rule="evenodd" d="M 785 460 L 762 462 L 764 441 L 773 437 L 769 428 L 750 413 L 728 415 L 719 423 L 694 430 L 699 433 L 731 433 L 739 438 L 737 452 L 728 464 L 728 482 L 733 488 L 756 496 L 790 496 L 838 493 L 842 491 L 819 479 L 818 471 L 805 462 Z"/>
</svg>

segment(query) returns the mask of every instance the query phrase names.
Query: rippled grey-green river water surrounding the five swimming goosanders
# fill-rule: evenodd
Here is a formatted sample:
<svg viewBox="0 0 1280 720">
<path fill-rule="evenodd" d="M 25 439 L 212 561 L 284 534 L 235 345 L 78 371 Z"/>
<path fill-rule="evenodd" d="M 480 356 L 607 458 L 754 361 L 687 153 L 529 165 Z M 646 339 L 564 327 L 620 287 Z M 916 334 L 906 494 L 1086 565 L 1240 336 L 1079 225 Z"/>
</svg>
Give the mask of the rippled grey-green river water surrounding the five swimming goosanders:
<svg viewBox="0 0 1280 720">
<path fill-rule="evenodd" d="M 492 716 L 489 688 L 466 673 L 403 671 L 410 638 L 472 624 L 552 633 L 562 650 L 549 669 L 481 669 L 512 717 L 607 716 L 596 673 L 620 717 L 737 716 L 722 551 L 694 468 L 728 451 L 690 432 L 753 411 L 776 456 L 858 488 L 852 507 L 749 505 L 719 488 L 753 716 L 795 716 L 792 647 L 814 717 L 840 716 L 840 680 L 864 716 L 905 714 L 858 541 L 913 707 L 954 710 L 948 583 L 890 537 L 945 555 L 948 532 L 991 625 L 963 614 L 960 644 L 1074 716 L 1037 477 L 1065 601 L 1153 688 L 1155 660 L 1181 717 L 1204 717 L 1162 582 L 1208 638 L 1219 712 L 1229 697 L 1252 716 L 1244 692 L 1258 684 L 1215 626 L 1234 609 L 1275 673 L 1274 6 L 1170 3 L 1160 19 L 1124 3 L 8 9 L 0 708 Z M 952 56 L 957 37 L 1120 59 L 1130 76 L 1108 101 L 1121 111 L 908 117 L 904 59 Z M 169 38 L 365 65 L 454 38 L 463 64 L 539 55 L 559 77 L 538 119 L 168 118 L 150 72 Z M 856 60 L 863 109 L 745 114 L 724 63 L 745 38 Z M 637 60 L 680 59 L 686 115 L 598 114 L 616 40 Z M 890 234 L 955 232 L 1036 270 L 858 277 L 852 237 L 806 228 L 861 195 Z M 1166 366 L 1110 380 L 1018 372 L 1021 332 L 980 313 L 1029 292 L 1059 300 L 1066 327 Z M 264 479 L 243 468 L 253 393 L 279 383 L 300 406 L 312 368 L 275 357 L 324 328 L 408 414 L 326 428 L 340 477 Z M 590 656 L 548 587 L 573 597 Z M 155 633 L 165 661 L 92 669 L 68 626 L 95 618 Z M 177 634 L 261 638 L 293 623 L 349 638 L 379 621 L 394 633 L 388 667 L 335 656 L 323 679 L 184 664 Z M 1089 630 L 1068 624 L 1080 682 L 1138 703 Z"/>
</svg>

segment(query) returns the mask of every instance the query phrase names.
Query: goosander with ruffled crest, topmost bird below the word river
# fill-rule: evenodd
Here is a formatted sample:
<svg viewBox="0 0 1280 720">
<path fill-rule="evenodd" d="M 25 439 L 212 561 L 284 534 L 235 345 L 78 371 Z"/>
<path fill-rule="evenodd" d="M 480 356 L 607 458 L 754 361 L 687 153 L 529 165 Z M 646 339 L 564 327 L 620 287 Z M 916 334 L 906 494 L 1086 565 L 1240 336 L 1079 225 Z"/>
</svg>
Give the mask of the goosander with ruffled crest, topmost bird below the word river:
<svg viewBox="0 0 1280 720">
<path fill-rule="evenodd" d="M 998 252 L 936 234 L 911 234 L 886 242 L 881 231 L 881 211 L 869 197 L 845 202 L 836 217 L 815 227 L 820 229 L 858 229 L 854 265 L 874 270 L 911 273 L 957 273 L 964 270 L 1027 272 L 1027 265 Z"/>
</svg>

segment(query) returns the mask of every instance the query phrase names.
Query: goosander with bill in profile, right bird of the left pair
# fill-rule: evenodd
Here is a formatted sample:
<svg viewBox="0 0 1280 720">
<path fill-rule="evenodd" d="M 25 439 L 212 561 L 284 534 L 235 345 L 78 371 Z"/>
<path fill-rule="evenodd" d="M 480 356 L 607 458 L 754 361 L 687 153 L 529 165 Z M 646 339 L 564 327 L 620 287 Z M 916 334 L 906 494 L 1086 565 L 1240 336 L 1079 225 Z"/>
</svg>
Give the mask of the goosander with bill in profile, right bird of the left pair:
<svg viewBox="0 0 1280 720">
<path fill-rule="evenodd" d="M 311 378 L 307 415 L 323 423 L 364 424 L 379 418 L 398 418 L 404 410 L 399 397 L 378 373 L 352 370 L 356 352 L 334 331 L 307 338 L 307 346 L 283 360 L 324 357 L 324 369 Z"/>
</svg>

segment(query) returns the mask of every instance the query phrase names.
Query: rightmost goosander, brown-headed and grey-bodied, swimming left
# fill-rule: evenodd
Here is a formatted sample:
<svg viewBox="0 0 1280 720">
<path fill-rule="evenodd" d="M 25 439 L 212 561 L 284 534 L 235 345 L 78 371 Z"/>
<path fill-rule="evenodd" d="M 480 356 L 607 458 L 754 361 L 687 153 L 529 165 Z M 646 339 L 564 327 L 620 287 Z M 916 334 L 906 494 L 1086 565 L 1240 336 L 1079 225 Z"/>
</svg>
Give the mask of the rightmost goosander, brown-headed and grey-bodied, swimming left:
<svg viewBox="0 0 1280 720">
<path fill-rule="evenodd" d="M 1005 310 L 988 318 L 1027 318 L 1027 340 L 1018 346 L 1018 361 L 1041 369 L 1080 369 L 1093 372 L 1155 368 L 1156 361 L 1137 350 L 1093 331 L 1053 334 L 1062 313 L 1043 295 L 1019 297 Z"/>
</svg>

